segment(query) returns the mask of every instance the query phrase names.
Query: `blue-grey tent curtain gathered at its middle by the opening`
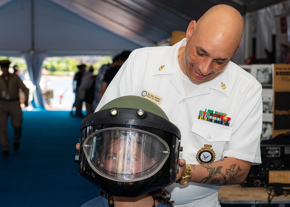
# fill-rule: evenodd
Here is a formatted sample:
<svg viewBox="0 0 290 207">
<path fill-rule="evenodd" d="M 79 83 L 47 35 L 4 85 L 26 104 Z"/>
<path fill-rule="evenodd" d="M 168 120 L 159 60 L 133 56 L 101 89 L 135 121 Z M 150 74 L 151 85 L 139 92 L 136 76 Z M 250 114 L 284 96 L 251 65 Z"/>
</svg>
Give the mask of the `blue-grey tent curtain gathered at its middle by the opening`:
<svg viewBox="0 0 290 207">
<path fill-rule="evenodd" d="M 33 99 L 31 104 L 34 108 L 44 108 L 44 100 L 39 86 L 42 62 L 46 58 L 46 54 L 42 52 L 25 52 L 23 58 L 26 60 L 27 70 L 30 80 L 36 86 L 33 91 Z"/>
</svg>

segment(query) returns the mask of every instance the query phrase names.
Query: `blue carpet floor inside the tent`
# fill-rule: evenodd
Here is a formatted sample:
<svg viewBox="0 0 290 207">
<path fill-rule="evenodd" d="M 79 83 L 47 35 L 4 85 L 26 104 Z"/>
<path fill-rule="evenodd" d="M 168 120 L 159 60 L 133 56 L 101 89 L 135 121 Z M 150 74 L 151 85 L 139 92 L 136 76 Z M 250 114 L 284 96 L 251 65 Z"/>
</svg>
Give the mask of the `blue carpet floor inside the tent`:
<svg viewBox="0 0 290 207">
<path fill-rule="evenodd" d="M 0 206 L 79 207 L 99 189 L 78 174 L 75 145 L 82 118 L 68 111 L 23 111 L 20 149 L 0 155 Z M 1 151 L 2 154 L 2 151 Z"/>
</svg>

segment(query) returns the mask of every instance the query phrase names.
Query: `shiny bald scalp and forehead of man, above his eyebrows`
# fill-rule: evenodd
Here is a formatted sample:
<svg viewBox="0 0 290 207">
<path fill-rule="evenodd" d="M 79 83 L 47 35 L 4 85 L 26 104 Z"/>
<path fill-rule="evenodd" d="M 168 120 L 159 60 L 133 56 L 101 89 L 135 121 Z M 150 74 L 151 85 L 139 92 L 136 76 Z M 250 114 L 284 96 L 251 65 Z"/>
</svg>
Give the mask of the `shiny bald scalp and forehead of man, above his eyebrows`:
<svg viewBox="0 0 290 207">
<path fill-rule="evenodd" d="M 209 9 L 196 23 L 194 35 L 238 48 L 244 30 L 243 18 L 235 8 L 220 4 Z"/>
</svg>

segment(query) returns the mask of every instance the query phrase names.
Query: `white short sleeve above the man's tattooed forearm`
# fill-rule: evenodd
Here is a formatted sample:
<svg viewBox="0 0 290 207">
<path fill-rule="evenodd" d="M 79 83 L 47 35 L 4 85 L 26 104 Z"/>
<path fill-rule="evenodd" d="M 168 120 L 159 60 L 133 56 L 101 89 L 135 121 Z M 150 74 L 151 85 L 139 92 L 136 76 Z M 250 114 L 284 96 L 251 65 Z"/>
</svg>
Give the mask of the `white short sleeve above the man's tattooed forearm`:
<svg viewBox="0 0 290 207">
<path fill-rule="evenodd" d="M 225 146 L 222 157 L 234 157 L 261 163 L 260 136 L 262 131 L 262 86 L 254 87 L 245 97 L 233 128 L 231 141 Z"/>
</svg>

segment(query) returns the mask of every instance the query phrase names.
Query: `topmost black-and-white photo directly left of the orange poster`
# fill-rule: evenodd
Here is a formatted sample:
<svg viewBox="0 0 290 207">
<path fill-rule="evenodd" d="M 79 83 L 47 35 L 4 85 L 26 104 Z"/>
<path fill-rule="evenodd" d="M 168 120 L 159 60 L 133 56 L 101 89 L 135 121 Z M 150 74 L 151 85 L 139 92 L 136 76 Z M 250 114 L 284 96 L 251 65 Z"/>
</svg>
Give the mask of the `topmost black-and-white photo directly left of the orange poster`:
<svg viewBox="0 0 290 207">
<path fill-rule="evenodd" d="M 273 66 L 271 64 L 252 65 L 251 74 L 261 83 L 262 88 L 272 88 Z"/>
</svg>

